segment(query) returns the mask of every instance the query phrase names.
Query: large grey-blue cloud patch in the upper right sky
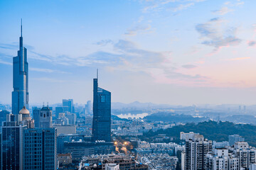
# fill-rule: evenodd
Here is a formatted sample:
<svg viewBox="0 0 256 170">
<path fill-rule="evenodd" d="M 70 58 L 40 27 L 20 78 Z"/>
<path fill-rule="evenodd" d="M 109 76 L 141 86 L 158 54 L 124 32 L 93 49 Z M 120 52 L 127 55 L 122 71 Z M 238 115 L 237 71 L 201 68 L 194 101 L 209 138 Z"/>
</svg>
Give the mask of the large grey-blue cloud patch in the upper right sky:
<svg viewBox="0 0 256 170">
<path fill-rule="evenodd" d="M 196 26 L 196 30 L 201 35 L 203 45 L 215 47 L 215 50 L 220 47 L 229 45 L 238 45 L 242 40 L 236 37 L 237 28 L 223 28 L 225 21 L 221 18 L 212 18 L 206 23 L 200 23 Z"/>
</svg>

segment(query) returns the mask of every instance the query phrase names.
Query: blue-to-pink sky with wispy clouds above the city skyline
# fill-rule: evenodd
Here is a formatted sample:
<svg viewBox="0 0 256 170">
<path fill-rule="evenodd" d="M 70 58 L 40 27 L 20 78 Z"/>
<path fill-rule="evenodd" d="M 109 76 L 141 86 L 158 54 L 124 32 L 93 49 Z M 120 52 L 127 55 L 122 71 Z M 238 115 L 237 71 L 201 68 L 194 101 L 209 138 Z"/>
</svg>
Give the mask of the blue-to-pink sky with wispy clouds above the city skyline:
<svg viewBox="0 0 256 170">
<path fill-rule="evenodd" d="M 256 1 L 0 1 L 0 102 L 11 103 L 21 18 L 29 102 L 256 103 Z"/>
</svg>

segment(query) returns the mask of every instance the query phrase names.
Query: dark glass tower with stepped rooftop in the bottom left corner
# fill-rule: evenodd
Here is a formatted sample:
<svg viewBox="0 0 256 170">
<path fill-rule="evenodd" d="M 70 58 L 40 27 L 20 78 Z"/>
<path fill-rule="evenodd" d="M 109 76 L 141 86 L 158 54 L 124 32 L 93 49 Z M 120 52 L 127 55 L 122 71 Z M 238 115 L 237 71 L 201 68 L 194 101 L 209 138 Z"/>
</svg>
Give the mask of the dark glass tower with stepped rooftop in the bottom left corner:
<svg viewBox="0 0 256 170">
<path fill-rule="evenodd" d="M 1 134 L 1 167 L 2 169 L 23 169 L 23 130 L 26 125 L 18 123 L 21 114 L 6 115 Z"/>
</svg>

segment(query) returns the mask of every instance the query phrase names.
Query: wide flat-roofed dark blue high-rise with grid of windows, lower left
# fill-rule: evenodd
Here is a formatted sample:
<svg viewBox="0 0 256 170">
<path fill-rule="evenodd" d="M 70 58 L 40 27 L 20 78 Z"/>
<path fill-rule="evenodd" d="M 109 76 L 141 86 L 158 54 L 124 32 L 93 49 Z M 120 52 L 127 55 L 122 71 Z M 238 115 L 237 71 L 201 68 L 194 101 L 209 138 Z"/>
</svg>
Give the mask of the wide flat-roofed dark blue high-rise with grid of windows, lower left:
<svg viewBox="0 0 256 170">
<path fill-rule="evenodd" d="M 23 169 L 57 169 L 57 130 L 55 128 L 24 130 Z"/>
</svg>

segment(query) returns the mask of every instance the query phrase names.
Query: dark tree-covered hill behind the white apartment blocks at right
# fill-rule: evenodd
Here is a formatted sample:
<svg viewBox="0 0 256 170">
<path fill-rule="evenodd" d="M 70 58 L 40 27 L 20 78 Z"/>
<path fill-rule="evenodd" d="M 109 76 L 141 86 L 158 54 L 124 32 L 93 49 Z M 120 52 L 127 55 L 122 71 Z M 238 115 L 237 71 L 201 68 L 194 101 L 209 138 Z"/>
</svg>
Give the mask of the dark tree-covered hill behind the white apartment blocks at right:
<svg viewBox="0 0 256 170">
<path fill-rule="evenodd" d="M 203 123 L 188 123 L 186 125 L 174 126 L 166 130 L 151 130 L 143 135 L 142 138 L 154 139 L 158 134 L 166 134 L 166 136 L 179 138 L 180 132 L 198 132 L 208 140 L 217 142 L 228 141 L 228 135 L 238 134 L 245 137 L 245 142 L 248 142 L 252 147 L 256 147 L 256 126 L 249 124 L 234 124 L 230 122 L 214 122 L 208 121 Z"/>
</svg>

